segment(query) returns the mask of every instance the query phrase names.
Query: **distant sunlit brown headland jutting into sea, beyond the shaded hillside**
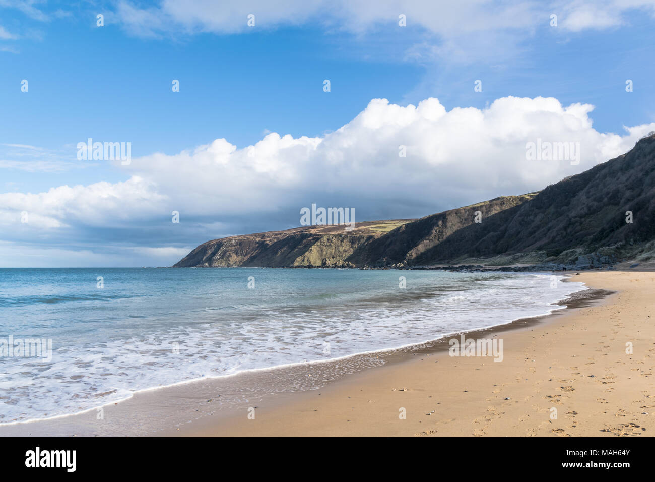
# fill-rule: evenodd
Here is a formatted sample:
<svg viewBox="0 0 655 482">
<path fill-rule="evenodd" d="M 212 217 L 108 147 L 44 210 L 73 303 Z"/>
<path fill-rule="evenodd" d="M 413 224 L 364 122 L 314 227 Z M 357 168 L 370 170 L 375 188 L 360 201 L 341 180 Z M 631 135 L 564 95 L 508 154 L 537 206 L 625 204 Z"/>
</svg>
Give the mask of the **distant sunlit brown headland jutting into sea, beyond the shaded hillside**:
<svg viewBox="0 0 655 482">
<path fill-rule="evenodd" d="M 480 216 L 515 207 L 534 194 L 502 196 L 432 214 L 419 220 L 358 222 L 345 226 L 308 226 L 214 239 L 198 246 L 176 268 L 270 267 L 358 268 L 406 266 Z"/>
</svg>

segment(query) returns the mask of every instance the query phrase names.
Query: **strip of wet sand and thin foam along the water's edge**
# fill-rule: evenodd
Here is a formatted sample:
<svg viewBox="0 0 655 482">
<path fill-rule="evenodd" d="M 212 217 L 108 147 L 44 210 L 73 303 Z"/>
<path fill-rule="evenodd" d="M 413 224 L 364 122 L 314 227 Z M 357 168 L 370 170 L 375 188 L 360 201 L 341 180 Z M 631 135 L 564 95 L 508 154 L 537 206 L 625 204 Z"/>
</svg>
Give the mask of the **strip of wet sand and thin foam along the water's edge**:
<svg viewBox="0 0 655 482">
<path fill-rule="evenodd" d="M 568 281 L 571 276 L 565 278 L 563 281 Z M 253 369 L 244 372 L 237 372 L 235 374 L 230 374 L 226 376 L 219 376 L 214 378 L 201 378 L 194 380 L 185 380 L 183 382 L 176 382 L 175 384 L 158 386 L 153 388 L 147 388 L 133 393 L 130 397 L 122 399 L 121 401 L 110 402 L 105 405 L 100 405 L 98 407 L 93 407 L 86 409 L 75 414 L 62 414 L 58 416 L 53 416 L 45 419 L 33 419 L 33 420 L 24 420 L 19 422 L 9 422 L 0 426 L 0 436 L 6 435 L 16 435 L 16 432 L 24 433 L 29 432 L 37 433 L 41 435 L 48 435 L 50 433 L 55 433 L 56 435 L 87 435 L 87 436 L 97 436 L 97 435 L 121 435 L 121 424 L 117 424 L 115 428 L 103 428 L 103 430 L 94 430 L 94 426 L 97 426 L 96 412 L 100 409 L 102 411 L 111 411 L 117 418 L 129 418 L 127 415 L 128 412 L 143 412 L 143 407 L 153 407 L 153 405 L 160 405 L 157 395 L 162 395 L 164 398 L 168 399 L 177 399 L 179 398 L 188 398 L 193 405 L 197 397 L 197 393 L 203 393 L 203 398 L 205 395 L 208 397 L 207 402 L 210 403 L 214 397 L 220 397 L 221 395 L 214 395 L 212 393 L 220 392 L 225 390 L 225 385 L 229 385 L 229 382 L 226 381 L 230 378 L 240 378 L 241 384 L 238 384 L 238 390 L 246 391 L 245 386 L 252 386 L 250 394 L 244 397 L 242 400 L 245 403 L 247 400 L 250 400 L 251 397 L 254 397 L 257 400 L 257 403 L 265 403 L 267 406 L 274 407 L 276 405 L 284 405 L 289 403 L 290 399 L 294 397 L 300 397 L 303 393 L 312 392 L 313 390 L 322 389 L 328 384 L 333 382 L 339 382 L 343 378 L 352 376 L 353 374 L 358 374 L 360 372 L 367 372 L 370 369 L 376 367 L 382 367 L 394 363 L 400 363 L 406 361 L 408 357 L 413 357 L 416 355 L 426 355 L 430 356 L 431 354 L 439 353 L 440 351 L 447 350 L 446 343 L 450 338 L 458 336 L 460 334 L 479 334 L 482 336 L 489 336 L 493 334 L 494 336 L 500 332 L 512 331 L 515 329 L 523 329 L 535 323 L 544 323 L 544 320 L 555 317 L 556 315 L 566 313 L 568 310 L 565 308 L 575 308 L 580 304 L 588 304 L 589 302 L 595 302 L 603 296 L 607 296 L 608 293 L 601 293 L 600 291 L 594 291 L 591 289 L 582 289 L 581 291 L 573 292 L 567 298 L 560 300 L 559 302 L 554 302 L 553 304 L 562 305 L 561 309 L 551 309 L 550 313 L 544 313 L 543 315 L 537 315 L 532 317 L 525 317 L 515 319 L 513 321 L 508 321 L 501 325 L 494 325 L 492 327 L 486 327 L 482 329 L 472 329 L 470 331 L 457 331 L 449 334 L 444 334 L 436 340 L 429 340 L 428 342 L 419 342 L 408 344 L 405 346 L 400 346 L 396 348 L 384 349 L 384 350 L 375 350 L 368 351 L 364 353 L 354 353 L 352 355 L 345 355 L 344 357 L 339 357 L 336 359 L 328 360 L 317 360 L 311 362 L 299 362 L 289 365 L 280 365 L 277 367 L 267 367 L 263 369 Z M 348 361 L 352 363 L 348 366 Z M 324 365 L 324 369 L 314 368 L 315 365 Z M 333 368 L 338 367 L 339 365 L 346 365 L 345 373 L 340 373 L 337 376 L 334 376 Z M 314 372 L 312 374 L 312 372 Z M 318 372 L 318 373 L 317 373 Z M 318 376 L 317 376 L 318 374 Z M 263 384 L 269 385 L 282 385 L 284 386 L 284 378 L 288 375 L 292 375 L 290 378 L 297 380 L 300 377 L 311 377 L 314 376 L 312 384 L 304 384 L 300 388 L 298 386 L 289 386 L 283 387 L 280 393 L 275 393 L 273 396 L 272 393 L 255 393 L 257 390 L 257 380 L 263 380 Z M 323 375 L 323 376 L 321 376 Z M 293 385 L 293 382 L 291 383 Z M 193 395 L 192 395 L 193 392 Z M 259 395 L 259 396 L 257 396 Z M 233 397 L 234 398 L 234 397 Z M 165 405 L 165 404 L 164 404 Z M 220 405 L 220 404 L 219 404 Z M 242 405 L 242 403 L 238 404 Z M 140 407 L 141 406 L 141 407 Z M 164 408 L 164 411 L 167 409 Z M 179 407 L 176 407 L 175 410 L 179 410 Z M 217 414 L 214 418 L 220 419 L 229 419 L 236 416 L 236 413 L 240 409 L 221 409 L 221 407 L 216 407 L 214 404 L 202 407 L 202 409 L 196 409 L 196 412 L 202 410 L 202 414 L 210 416 Z M 188 415 L 193 416 L 193 413 L 188 413 Z M 195 417 L 193 420 L 204 420 L 205 416 Z M 205 420 L 206 421 L 206 420 Z M 104 422 L 104 420 L 103 420 Z M 171 424 L 172 422 L 172 424 Z M 191 422 L 193 425 L 195 422 Z M 182 430 L 183 433 L 187 433 L 189 421 L 181 422 L 181 420 L 170 420 L 168 426 L 162 427 L 160 424 L 151 424 L 153 426 L 158 426 L 155 430 L 145 430 L 143 432 L 132 432 L 126 433 L 126 435 L 157 435 L 159 433 L 165 435 L 178 435 L 179 430 Z M 103 424 L 104 425 L 104 424 Z M 23 430 L 21 430 L 23 429 Z M 99 433 L 96 433 L 99 432 Z M 172 433 L 178 432 L 178 433 Z M 193 432 L 193 430 L 192 430 Z"/>
</svg>

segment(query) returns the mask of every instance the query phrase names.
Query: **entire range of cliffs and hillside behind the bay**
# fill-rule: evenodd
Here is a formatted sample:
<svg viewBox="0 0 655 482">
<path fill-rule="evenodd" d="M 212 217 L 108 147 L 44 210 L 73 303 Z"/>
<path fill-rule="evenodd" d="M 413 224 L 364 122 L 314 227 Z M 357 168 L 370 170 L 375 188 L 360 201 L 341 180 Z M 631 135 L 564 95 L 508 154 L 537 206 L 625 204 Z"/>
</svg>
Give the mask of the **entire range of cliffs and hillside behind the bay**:
<svg viewBox="0 0 655 482">
<path fill-rule="evenodd" d="M 626 222 L 628 211 L 633 222 Z M 360 222 L 352 231 L 308 226 L 215 239 L 175 266 L 583 266 L 586 258 L 609 264 L 654 254 L 655 134 L 537 193 L 496 197 L 418 220 Z"/>
</svg>

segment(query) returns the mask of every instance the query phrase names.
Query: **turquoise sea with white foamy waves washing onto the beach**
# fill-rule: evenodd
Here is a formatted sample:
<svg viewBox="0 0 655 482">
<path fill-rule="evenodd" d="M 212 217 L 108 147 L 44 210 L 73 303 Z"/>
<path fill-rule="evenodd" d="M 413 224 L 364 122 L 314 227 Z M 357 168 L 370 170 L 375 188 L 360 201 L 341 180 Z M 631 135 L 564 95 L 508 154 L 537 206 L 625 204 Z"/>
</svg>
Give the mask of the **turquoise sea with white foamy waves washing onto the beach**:
<svg viewBox="0 0 655 482">
<path fill-rule="evenodd" d="M 561 308 L 553 302 L 584 289 L 555 279 L 561 277 L 0 269 L 0 347 L 10 336 L 52 342 L 51 359 L 48 353 L 0 354 L 0 423 L 71 414 L 197 378 L 399 348 L 543 315 Z"/>
</svg>

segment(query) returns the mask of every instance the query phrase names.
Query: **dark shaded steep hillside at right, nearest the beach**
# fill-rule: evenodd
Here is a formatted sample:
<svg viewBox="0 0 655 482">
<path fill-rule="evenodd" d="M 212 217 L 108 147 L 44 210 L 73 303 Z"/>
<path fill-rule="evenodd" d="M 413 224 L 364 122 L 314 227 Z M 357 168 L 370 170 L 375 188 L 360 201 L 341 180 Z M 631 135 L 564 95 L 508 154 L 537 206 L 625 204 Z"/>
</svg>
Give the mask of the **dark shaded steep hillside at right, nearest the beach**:
<svg viewBox="0 0 655 482">
<path fill-rule="evenodd" d="M 496 258 L 495 264 L 511 264 L 523 257 L 529 262 L 577 265 L 581 256 L 614 261 L 647 256 L 654 241 L 655 135 L 651 135 L 626 154 L 458 230 L 414 262 L 466 264 Z"/>
</svg>

